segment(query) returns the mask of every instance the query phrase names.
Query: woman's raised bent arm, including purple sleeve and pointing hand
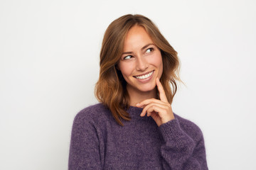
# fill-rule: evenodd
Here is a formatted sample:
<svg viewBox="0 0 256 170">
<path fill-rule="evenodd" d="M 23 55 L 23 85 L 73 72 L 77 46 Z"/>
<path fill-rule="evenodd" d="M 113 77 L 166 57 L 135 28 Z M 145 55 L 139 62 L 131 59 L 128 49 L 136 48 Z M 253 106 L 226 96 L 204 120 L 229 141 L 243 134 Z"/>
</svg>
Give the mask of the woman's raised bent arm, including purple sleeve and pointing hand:
<svg viewBox="0 0 256 170">
<path fill-rule="evenodd" d="M 141 116 L 150 115 L 159 126 L 164 138 L 164 145 L 161 146 L 164 169 L 208 169 L 201 130 L 193 123 L 188 123 L 191 126 L 189 128 L 192 128 L 192 131 L 189 130 L 191 135 L 184 132 L 178 120 L 174 118 L 171 104 L 158 78 L 156 78 L 156 86 L 160 100 L 146 99 L 137 106 L 144 108 Z"/>
</svg>

